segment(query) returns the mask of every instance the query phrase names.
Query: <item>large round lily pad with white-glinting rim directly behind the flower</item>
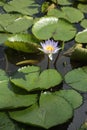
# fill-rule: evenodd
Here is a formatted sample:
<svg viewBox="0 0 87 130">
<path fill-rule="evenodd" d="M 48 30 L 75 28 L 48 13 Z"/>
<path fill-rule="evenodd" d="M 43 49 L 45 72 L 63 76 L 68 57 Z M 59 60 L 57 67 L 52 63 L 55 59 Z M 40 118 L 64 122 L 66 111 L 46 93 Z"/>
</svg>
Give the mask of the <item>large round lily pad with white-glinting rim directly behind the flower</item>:
<svg viewBox="0 0 87 130">
<path fill-rule="evenodd" d="M 68 41 L 76 34 L 76 28 L 65 20 L 56 17 L 43 17 L 39 19 L 32 28 L 33 34 L 38 39 L 49 39 Z"/>
</svg>

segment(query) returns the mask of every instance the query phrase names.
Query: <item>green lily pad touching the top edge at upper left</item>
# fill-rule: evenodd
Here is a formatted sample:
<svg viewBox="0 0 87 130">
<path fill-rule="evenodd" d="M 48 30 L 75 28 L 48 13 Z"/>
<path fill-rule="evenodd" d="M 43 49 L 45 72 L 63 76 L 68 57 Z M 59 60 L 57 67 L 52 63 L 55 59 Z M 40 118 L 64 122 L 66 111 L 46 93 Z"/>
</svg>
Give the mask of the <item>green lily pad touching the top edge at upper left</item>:
<svg viewBox="0 0 87 130">
<path fill-rule="evenodd" d="M 20 4 L 21 3 L 21 4 Z M 6 12 L 18 12 L 25 15 L 33 15 L 38 13 L 39 5 L 35 0 L 12 0 L 4 5 Z"/>
</svg>

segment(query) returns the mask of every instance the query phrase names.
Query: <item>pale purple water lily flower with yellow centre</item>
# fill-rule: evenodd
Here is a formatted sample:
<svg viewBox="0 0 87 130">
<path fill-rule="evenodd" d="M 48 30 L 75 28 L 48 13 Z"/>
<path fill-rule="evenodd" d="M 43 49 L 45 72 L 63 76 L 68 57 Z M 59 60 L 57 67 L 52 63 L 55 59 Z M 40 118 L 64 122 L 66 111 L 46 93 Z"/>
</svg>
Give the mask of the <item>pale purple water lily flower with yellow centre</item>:
<svg viewBox="0 0 87 130">
<path fill-rule="evenodd" d="M 40 44 L 42 48 L 38 49 L 47 54 L 50 60 L 53 60 L 53 54 L 58 53 L 58 51 L 61 49 L 58 47 L 58 42 L 53 40 L 47 40 L 43 43 L 41 42 Z"/>
</svg>

